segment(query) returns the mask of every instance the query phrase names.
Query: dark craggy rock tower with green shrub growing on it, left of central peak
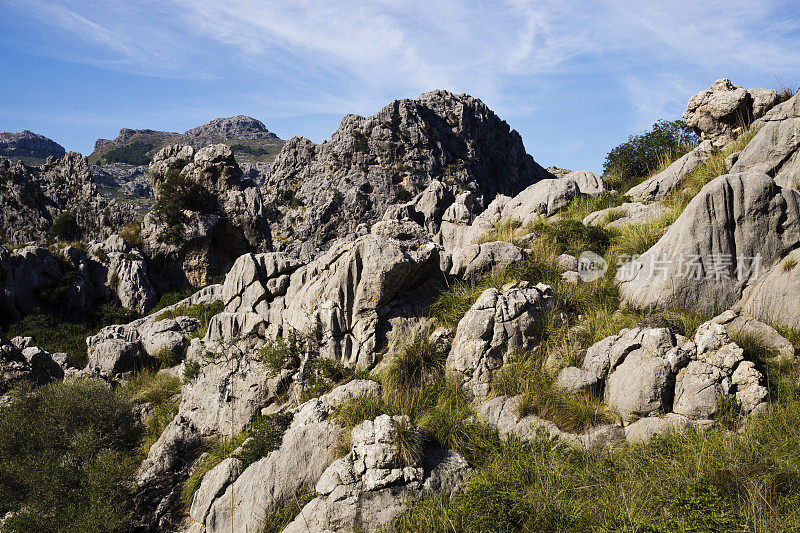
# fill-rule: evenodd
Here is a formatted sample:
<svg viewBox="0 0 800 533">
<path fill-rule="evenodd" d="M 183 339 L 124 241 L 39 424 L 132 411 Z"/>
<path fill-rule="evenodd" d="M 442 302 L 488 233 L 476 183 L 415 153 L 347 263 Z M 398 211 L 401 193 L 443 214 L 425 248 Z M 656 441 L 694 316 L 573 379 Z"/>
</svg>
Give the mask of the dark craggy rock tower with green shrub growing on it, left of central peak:
<svg viewBox="0 0 800 533">
<path fill-rule="evenodd" d="M 170 169 L 179 170 L 180 184 L 169 181 Z M 205 286 L 227 272 L 240 255 L 270 249 L 261 193 L 241 180 L 227 146 L 196 152 L 190 146 L 164 148 L 153 158 L 150 175 L 157 208 L 161 195 L 174 195 L 177 187 L 184 191 L 164 201 L 172 219 L 154 210 L 142 222 L 142 250 L 160 292 Z"/>
</svg>

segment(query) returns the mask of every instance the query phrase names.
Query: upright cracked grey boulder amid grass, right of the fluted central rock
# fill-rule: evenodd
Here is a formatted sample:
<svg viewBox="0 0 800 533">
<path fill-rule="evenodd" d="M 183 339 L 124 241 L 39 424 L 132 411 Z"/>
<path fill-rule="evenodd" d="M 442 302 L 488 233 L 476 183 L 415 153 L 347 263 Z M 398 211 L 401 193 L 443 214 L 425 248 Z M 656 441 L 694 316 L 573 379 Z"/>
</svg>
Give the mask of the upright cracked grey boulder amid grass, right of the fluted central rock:
<svg viewBox="0 0 800 533">
<path fill-rule="evenodd" d="M 499 291 L 487 289 L 458 323 L 446 368 L 463 380 L 465 391 L 486 396 L 492 372 L 541 340 L 553 289 L 539 284 Z"/>
</svg>

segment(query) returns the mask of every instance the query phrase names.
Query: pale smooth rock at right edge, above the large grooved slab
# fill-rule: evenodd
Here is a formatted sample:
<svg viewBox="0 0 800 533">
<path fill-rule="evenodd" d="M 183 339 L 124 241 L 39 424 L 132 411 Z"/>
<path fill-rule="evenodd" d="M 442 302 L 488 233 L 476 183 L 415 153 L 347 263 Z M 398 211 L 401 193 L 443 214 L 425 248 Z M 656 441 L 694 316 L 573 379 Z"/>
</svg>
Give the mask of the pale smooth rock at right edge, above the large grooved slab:
<svg viewBox="0 0 800 533">
<path fill-rule="evenodd" d="M 755 137 L 731 172 L 764 172 L 781 187 L 800 187 L 800 99 L 794 95 L 753 124 Z"/>
</svg>

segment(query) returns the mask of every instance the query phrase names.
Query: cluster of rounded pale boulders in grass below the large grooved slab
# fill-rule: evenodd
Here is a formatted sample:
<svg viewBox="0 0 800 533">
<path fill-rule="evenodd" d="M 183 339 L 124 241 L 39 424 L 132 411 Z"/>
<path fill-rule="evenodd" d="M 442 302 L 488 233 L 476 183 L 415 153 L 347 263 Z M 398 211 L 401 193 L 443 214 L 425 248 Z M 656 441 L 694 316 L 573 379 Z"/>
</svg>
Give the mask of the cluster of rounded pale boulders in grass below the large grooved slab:
<svg viewBox="0 0 800 533">
<path fill-rule="evenodd" d="M 722 316 L 706 322 L 693 340 L 668 328 L 624 329 L 592 345 L 583 367 L 565 368 L 556 384 L 566 392 L 582 392 L 579 387 L 564 386 L 580 377 L 602 388 L 609 411 L 623 423 L 670 413 L 688 420 L 710 420 L 726 398 L 735 400 L 745 414 L 761 411 L 767 406 L 766 379 L 756 368 L 758 361 L 745 360 L 744 350 L 731 342 L 722 324 L 731 320 Z M 672 426 L 647 424 L 646 433 Z M 630 433 L 643 438 L 644 431 L 638 427 Z"/>
</svg>

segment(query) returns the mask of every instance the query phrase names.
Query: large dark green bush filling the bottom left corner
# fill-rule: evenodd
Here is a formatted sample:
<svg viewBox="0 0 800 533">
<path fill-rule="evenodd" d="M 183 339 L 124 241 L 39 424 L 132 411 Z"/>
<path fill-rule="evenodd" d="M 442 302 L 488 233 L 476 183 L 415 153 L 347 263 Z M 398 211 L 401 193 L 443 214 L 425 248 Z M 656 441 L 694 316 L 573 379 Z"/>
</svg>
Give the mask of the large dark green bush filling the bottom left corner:
<svg viewBox="0 0 800 533">
<path fill-rule="evenodd" d="M 122 531 L 141 428 L 129 402 L 92 381 L 17 391 L 0 410 L 3 531 Z"/>
</svg>

